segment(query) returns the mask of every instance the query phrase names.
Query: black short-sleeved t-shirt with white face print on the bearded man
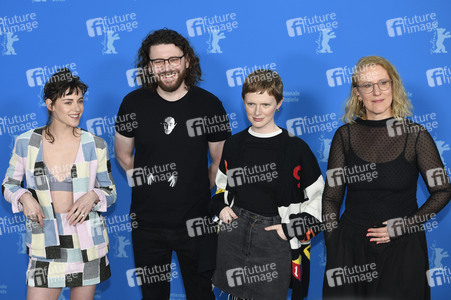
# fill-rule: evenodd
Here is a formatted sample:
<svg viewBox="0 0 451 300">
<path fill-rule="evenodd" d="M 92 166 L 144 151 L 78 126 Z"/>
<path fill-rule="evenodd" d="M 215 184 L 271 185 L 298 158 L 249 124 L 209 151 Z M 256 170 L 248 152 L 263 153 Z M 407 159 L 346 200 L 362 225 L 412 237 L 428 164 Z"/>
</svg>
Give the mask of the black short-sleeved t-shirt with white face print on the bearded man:
<svg viewBox="0 0 451 300">
<path fill-rule="evenodd" d="M 186 228 L 186 221 L 207 215 L 210 199 L 208 142 L 231 135 L 221 101 L 191 87 L 171 102 L 157 92 L 138 89 L 124 97 L 116 131 L 135 138 L 130 213 L 140 226 Z"/>
</svg>

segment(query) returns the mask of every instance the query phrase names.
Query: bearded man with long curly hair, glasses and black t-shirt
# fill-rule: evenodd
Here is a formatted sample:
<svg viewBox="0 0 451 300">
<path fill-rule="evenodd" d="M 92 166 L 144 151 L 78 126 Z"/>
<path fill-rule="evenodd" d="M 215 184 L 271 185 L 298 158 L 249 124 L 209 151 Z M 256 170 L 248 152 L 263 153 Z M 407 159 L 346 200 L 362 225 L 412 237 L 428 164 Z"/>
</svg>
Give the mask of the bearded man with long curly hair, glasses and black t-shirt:
<svg viewBox="0 0 451 300">
<path fill-rule="evenodd" d="M 202 74 L 199 58 L 179 33 L 167 28 L 151 32 L 137 61 L 135 80 L 142 87 L 126 95 L 119 108 L 115 152 L 132 187 L 138 284 L 143 299 L 169 299 L 166 275 L 173 272 L 175 251 L 187 299 L 214 299 L 212 273 L 203 272 L 206 255 L 201 255 L 207 234 L 202 226 L 194 229 L 208 216 L 210 189 L 231 134 L 228 118 L 221 101 L 196 86 Z M 171 176 L 158 174 L 162 169 Z M 152 178 L 151 184 L 146 178 Z"/>
</svg>

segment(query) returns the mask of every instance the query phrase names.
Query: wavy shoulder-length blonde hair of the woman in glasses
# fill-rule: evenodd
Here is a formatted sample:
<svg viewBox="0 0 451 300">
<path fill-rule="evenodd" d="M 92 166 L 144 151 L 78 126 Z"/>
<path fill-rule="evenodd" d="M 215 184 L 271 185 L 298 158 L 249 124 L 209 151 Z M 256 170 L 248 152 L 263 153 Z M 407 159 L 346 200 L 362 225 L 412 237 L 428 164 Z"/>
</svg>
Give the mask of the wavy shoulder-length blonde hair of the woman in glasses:
<svg viewBox="0 0 451 300">
<path fill-rule="evenodd" d="M 359 72 L 368 71 L 369 68 L 374 67 L 375 65 L 383 67 L 392 80 L 391 88 L 393 101 L 391 104 L 391 111 L 393 116 L 399 119 L 412 115 L 412 104 L 410 103 L 409 98 L 407 98 L 406 90 L 404 89 L 401 77 L 399 77 L 396 68 L 383 57 L 365 56 L 357 62 L 354 72 L 352 73 L 351 93 L 346 99 L 345 113 L 342 117 L 344 123 L 354 123 L 356 118 L 366 119 L 365 108 L 361 105 L 353 89 L 358 84 Z"/>
</svg>

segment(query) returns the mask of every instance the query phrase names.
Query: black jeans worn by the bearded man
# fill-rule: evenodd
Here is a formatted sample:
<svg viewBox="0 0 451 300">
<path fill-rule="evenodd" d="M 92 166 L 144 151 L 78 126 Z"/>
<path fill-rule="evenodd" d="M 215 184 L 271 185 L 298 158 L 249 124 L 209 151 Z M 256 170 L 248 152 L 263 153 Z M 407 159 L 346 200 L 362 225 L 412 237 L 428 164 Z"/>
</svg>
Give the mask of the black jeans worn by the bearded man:
<svg viewBox="0 0 451 300">
<path fill-rule="evenodd" d="M 143 300 L 164 300 L 170 296 L 172 251 L 177 253 L 187 300 L 214 300 L 211 275 L 198 272 L 199 237 L 186 229 L 149 229 L 132 231 L 135 267 L 145 274 L 141 280 Z M 143 271 L 144 270 L 144 271 Z"/>
</svg>

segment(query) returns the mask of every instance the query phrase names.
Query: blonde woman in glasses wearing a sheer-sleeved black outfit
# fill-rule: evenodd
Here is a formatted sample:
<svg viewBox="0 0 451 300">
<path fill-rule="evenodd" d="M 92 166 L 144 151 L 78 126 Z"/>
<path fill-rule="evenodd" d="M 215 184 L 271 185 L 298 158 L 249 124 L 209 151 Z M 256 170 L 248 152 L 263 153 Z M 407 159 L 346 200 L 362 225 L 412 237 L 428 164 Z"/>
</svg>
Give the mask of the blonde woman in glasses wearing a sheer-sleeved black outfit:
<svg viewBox="0 0 451 300">
<path fill-rule="evenodd" d="M 430 134 L 406 119 L 411 110 L 390 62 L 358 61 L 323 193 L 333 228 L 325 232 L 324 299 L 430 299 L 423 224 L 449 202 L 451 185 Z M 430 193 L 420 208 L 419 174 Z"/>
</svg>

